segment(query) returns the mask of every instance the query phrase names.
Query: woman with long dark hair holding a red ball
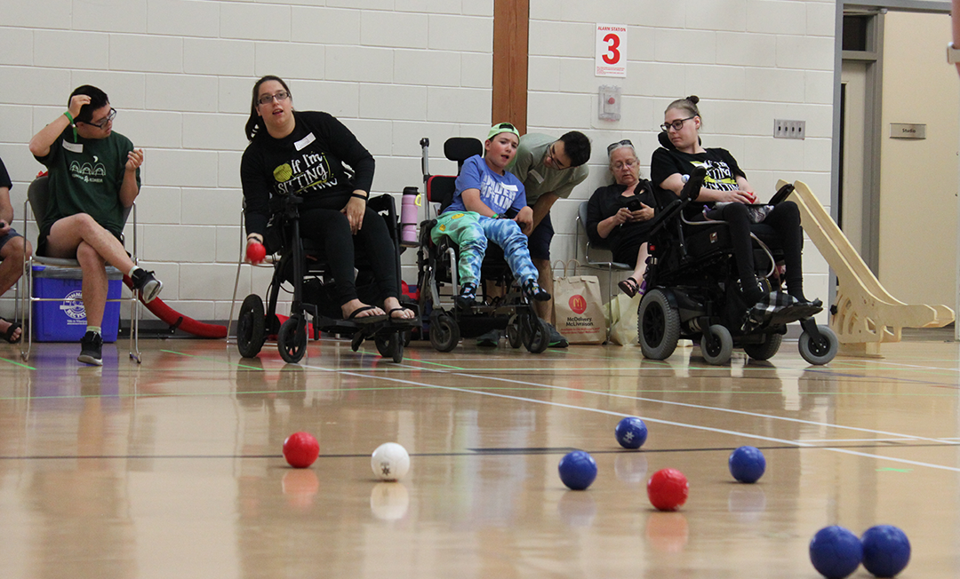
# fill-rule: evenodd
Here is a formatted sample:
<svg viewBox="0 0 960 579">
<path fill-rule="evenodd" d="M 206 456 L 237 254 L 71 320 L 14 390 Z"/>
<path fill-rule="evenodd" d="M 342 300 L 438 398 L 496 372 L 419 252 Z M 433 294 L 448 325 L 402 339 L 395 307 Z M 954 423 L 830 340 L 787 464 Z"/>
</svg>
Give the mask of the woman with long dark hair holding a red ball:
<svg viewBox="0 0 960 579">
<path fill-rule="evenodd" d="M 367 207 L 374 161 L 340 121 L 325 112 L 294 110 L 287 83 L 274 76 L 253 85 L 250 140 L 240 165 L 247 243 L 263 243 L 271 200 L 297 195 L 300 235 L 324 246 L 344 319 L 410 320 L 396 279 L 396 254 L 384 220 Z M 353 171 L 349 177 L 344 164 Z M 369 259 L 383 308 L 362 302 L 354 285 L 355 251 Z"/>
</svg>

